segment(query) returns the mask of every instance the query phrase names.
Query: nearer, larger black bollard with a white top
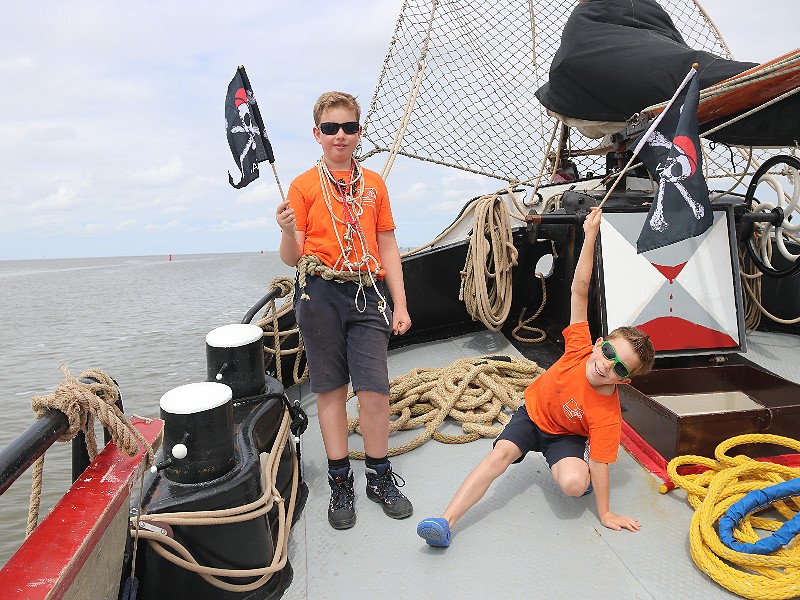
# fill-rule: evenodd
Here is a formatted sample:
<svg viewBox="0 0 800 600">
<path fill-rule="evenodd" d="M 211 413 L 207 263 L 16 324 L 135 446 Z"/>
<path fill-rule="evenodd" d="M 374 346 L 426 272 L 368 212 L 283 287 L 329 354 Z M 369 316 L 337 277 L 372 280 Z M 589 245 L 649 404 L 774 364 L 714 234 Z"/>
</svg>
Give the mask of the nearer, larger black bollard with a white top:
<svg viewBox="0 0 800 600">
<path fill-rule="evenodd" d="M 235 464 L 233 393 L 214 382 L 189 383 L 161 397 L 164 461 L 151 470 L 178 483 L 221 477 Z"/>
</svg>

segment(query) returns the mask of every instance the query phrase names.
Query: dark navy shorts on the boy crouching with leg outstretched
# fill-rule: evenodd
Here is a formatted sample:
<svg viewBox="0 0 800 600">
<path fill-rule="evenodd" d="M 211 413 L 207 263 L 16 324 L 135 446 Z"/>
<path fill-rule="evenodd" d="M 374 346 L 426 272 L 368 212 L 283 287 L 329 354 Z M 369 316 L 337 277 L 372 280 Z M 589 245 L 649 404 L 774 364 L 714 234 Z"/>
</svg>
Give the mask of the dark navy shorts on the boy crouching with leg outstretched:
<svg viewBox="0 0 800 600">
<path fill-rule="evenodd" d="M 554 464 L 568 456 L 574 456 L 587 462 L 589 460 L 589 443 L 586 437 L 554 435 L 542 431 L 536 423 L 531 421 L 524 402 L 511 416 L 511 421 L 500 432 L 494 443 L 497 444 L 498 440 L 508 440 L 522 451 L 522 456 L 515 460 L 515 463 L 522 461 L 528 452 L 544 454 L 551 469 Z"/>
</svg>

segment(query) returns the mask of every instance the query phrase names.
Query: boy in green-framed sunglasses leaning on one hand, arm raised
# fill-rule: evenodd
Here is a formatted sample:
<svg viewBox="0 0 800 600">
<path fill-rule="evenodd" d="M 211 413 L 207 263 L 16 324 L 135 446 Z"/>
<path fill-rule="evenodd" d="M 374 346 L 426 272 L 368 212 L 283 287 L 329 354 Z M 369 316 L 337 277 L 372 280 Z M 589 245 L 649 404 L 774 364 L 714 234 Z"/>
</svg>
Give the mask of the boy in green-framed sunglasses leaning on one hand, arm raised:
<svg viewBox="0 0 800 600">
<path fill-rule="evenodd" d="M 620 327 L 592 344 L 587 322 L 589 281 L 601 214 L 592 209 L 583 223 L 564 355 L 528 386 L 525 401 L 442 516 L 419 523 L 417 533 L 431 546 L 449 546 L 456 522 L 510 464 L 520 462 L 530 451 L 544 455 L 553 479 L 567 496 L 582 496 L 594 488 L 597 513 L 605 527 L 639 530 L 635 518 L 609 508 L 608 464 L 616 460 L 620 441 L 617 386 L 648 373 L 655 350 L 650 338 L 635 327 Z"/>
</svg>

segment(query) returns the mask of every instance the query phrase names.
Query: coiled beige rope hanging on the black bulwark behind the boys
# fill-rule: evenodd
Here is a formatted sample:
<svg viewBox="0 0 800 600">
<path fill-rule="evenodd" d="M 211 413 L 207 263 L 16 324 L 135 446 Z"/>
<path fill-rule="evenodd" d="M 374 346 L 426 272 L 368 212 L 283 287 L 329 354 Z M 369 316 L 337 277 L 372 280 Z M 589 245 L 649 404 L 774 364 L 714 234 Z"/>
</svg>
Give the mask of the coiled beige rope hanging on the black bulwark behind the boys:
<svg viewBox="0 0 800 600">
<path fill-rule="evenodd" d="M 475 203 L 474 225 L 458 292 L 458 299 L 464 302 L 472 319 L 491 331 L 500 330 L 511 309 L 511 275 L 518 255 L 508 207 L 499 197 L 504 191 L 513 196 L 513 190 L 508 188 L 482 196 Z"/>
</svg>

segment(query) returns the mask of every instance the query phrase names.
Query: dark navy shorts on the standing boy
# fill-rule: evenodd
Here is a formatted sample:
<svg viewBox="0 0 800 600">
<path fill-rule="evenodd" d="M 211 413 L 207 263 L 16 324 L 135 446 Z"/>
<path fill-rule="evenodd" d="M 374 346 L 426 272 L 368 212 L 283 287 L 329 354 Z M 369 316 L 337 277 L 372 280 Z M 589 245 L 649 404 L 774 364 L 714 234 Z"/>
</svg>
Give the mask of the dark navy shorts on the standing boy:
<svg viewBox="0 0 800 600">
<path fill-rule="evenodd" d="M 384 298 L 385 286 L 378 282 Z M 311 391 L 330 392 L 352 382 L 353 391 L 389 394 L 387 352 L 392 332 L 392 310 L 386 319 L 378 312 L 374 287 L 364 287 L 356 308 L 358 284 L 306 277 L 309 300 L 300 299 L 295 282 L 294 312 L 306 350 Z"/>
</svg>

